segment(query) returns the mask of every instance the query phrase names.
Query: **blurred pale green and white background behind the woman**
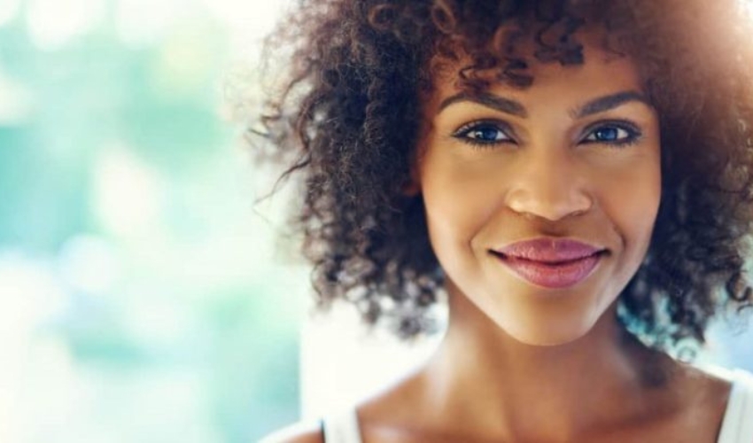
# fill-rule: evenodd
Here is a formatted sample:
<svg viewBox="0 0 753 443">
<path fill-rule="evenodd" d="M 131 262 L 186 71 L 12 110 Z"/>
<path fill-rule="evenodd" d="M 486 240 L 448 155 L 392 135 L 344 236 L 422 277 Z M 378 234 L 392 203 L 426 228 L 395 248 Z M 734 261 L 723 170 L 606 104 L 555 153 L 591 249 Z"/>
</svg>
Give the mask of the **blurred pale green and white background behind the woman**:
<svg viewBox="0 0 753 443">
<path fill-rule="evenodd" d="M 285 3 L 0 0 L 0 441 L 256 441 L 436 344 L 310 319 L 254 205 L 229 115 Z M 703 358 L 753 369 L 751 338 Z"/>
</svg>

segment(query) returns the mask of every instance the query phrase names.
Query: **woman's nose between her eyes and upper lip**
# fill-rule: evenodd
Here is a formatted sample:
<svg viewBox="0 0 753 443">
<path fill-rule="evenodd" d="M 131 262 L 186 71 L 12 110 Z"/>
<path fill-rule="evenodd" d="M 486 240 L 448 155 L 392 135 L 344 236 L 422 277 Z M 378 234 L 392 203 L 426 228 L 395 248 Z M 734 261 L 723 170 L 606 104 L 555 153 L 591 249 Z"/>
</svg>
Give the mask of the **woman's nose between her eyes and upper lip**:
<svg viewBox="0 0 753 443">
<path fill-rule="evenodd" d="M 549 151 L 525 155 L 511 173 L 507 206 L 518 214 L 547 221 L 587 213 L 594 198 L 586 171 L 567 153 Z"/>
</svg>

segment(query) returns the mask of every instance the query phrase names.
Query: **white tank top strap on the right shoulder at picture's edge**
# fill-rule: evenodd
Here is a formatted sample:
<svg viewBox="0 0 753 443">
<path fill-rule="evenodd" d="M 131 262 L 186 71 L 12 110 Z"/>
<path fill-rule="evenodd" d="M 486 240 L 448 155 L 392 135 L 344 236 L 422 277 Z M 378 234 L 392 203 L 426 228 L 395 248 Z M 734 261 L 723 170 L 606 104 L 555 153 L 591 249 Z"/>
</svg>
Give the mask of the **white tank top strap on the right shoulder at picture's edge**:
<svg viewBox="0 0 753 443">
<path fill-rule="evenodd" d="M 753 376 L 738 369 L 731 378 L 732 391 L 717 443 L 753 443 Z"/>
</svg>

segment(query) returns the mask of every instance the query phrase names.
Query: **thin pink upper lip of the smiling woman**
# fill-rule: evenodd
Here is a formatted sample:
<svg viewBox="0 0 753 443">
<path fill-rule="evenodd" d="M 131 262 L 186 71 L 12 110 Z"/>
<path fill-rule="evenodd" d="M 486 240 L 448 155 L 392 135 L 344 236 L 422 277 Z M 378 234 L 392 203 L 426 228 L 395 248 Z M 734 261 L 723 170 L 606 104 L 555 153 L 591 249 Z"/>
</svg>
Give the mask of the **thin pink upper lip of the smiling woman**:
<svg viewBox="0 0 753 443">
<path fill-rule="evenodd" d="M 584 259 L 602 251 L 605 251 L 602 247 L 571 238 L 540 237 L 494 249 L 493 253 L 505 258 L 556 263 Z"/>
</svg>

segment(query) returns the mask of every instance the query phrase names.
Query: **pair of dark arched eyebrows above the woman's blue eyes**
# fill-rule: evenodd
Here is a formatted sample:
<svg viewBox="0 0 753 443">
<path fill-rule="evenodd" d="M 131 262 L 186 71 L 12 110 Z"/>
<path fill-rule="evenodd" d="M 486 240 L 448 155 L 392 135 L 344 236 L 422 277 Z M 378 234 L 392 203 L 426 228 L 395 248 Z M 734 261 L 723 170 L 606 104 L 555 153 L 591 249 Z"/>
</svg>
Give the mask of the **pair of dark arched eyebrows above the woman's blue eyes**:
<svg viewBox="0 0 753 443">
<path fill-rule="evenodd" d="M 455 94 L 454 96 L 447 97 L 442 101 L 441 104 L 439 104 L 439 113 L 442 112 L 447 106 L 454 105 L 455 103 L 459 102 L 477 103 L 478 105 L 492 108 L 496 111 L 500 111 L 501 113 L 508 113 L 522 118 L 528 117 L 528 111 L 526 111 L 524 105 L 521 105 L 515 100 L 495 96 L 488 92 L 482 92 L 475 95 L 461 92 L 459 94 Z M 615 94 L 609 94 L 608 96 L 594 98 L 593 100 L 587 102 L 585 105 L 572 110 L 570 114 L 573 119 L 582 119 L 583 117 L 586 117 L 588 115 L 592 115 L 594 113 L 603 113 L 630 102 L 640 102 L 644 105 L 647 105 L 648 107 L 653 108 L 653 106 L 648 101 L 648 98 L 640 92 L 634 90 L 625 90 L 617 92 Z"/>
</svg>

